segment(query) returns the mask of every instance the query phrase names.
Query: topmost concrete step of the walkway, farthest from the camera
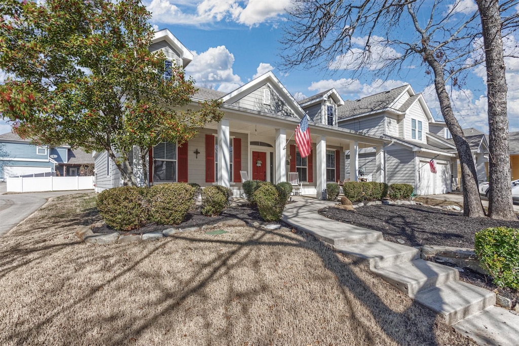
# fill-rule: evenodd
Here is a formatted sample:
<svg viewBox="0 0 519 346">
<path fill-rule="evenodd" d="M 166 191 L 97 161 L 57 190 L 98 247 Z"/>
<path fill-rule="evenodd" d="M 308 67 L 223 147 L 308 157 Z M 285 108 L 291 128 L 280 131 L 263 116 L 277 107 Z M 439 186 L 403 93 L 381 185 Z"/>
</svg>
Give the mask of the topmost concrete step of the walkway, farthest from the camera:
<svg viewBox="0 0 519 346">
<path fill-rule="evenodd" d="M 348 258 L 363 261 L 372 270 L 412 261 L 420 256 L 420 251 L 414 247 L 386 241 L 340 246 L 336 249 Z"/>
</svg>

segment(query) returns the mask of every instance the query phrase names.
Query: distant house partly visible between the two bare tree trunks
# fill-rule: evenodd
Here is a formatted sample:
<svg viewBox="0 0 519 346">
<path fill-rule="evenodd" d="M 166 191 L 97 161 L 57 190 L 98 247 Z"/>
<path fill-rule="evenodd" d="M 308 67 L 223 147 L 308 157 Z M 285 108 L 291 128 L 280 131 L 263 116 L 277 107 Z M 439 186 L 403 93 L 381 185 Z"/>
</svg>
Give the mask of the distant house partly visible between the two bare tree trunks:
<svg viewBox="0 0 519 346">
<path fill-rule="evenodd" d="M 464 128 L 463 136 L 469 143 L 470 152 L 474 160 L 474 166 L 477 174 L 477 184 L 488 181 L 488 140 L 480 130 L 473 127 Z M 449 142 L 454 145 L 454 140 L 451 138 Z M 459 161 L 458 161 L 459 162 Z M 461 166 L 458 165 L 457 176 L 460 178 L 461 184 Z"/>
</svg>

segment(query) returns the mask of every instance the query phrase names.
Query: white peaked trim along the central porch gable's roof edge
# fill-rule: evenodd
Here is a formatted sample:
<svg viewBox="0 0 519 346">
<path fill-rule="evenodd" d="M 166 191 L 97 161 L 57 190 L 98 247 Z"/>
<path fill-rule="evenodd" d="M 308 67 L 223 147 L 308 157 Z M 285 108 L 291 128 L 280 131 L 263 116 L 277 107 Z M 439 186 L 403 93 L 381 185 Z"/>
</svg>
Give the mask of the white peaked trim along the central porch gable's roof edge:
<svg viewBox="0 0 519 346">
<path fill-rule="evenodd" d="M 229 92 L 229 94 L 225 95 L 222 98 L 222 101 L 226 104 L 233 104 L 236 101 L 240 100 L 244 96 L 249 95 L 252 91 L 260 88 L 261 86 L 270 83 L 271 87 L 277 91 L 279 97 L 286 103 L 286 105 L 294 111 L 294 113 L 299 117 L 303 117 L 305 115 L 305 111 L 299 103 L 294 99 L 294 97 L 290 94 L 288 90 L 281 84 L 279 79 L 269 71 L 267 73 L 262 74 L 261 76 L 252 79 L 249 83 L 246 83 L 239 87 L 238 89 Z"/>
</svg>

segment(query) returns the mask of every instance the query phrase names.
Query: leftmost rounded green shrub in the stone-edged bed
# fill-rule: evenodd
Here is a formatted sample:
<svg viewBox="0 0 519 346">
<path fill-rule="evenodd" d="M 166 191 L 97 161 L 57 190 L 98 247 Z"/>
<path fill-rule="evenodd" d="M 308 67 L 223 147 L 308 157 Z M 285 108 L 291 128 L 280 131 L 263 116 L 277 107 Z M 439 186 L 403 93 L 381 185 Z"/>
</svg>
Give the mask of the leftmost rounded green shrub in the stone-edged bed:
<svg viewBox="0 0 519 346">
<path fill-rule="evenodd" d="M 118 231 L 139 228 L 148 218 L 145 188 L 125 186 L 104 190 L 95 204 L 106 224 Z"/>
</svg>

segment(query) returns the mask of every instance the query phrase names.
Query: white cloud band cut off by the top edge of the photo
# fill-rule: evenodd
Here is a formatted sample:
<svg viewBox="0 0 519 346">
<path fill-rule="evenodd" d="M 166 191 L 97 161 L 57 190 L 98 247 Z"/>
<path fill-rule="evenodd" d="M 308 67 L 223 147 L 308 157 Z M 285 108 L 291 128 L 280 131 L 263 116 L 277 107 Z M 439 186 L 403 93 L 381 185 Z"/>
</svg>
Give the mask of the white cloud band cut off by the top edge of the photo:
<svg viewBox="0 0 519 346">
<path fill-rule="evenodd" d="M 276 23 L 285 14 L 290 0 L 152 0 L 147 9 L 153 22 L 165 24 L 200 25 L 222 20 L 247 26 Z"/>
</svg>

